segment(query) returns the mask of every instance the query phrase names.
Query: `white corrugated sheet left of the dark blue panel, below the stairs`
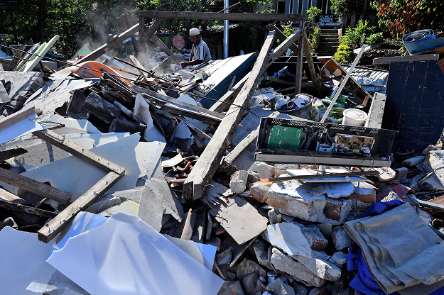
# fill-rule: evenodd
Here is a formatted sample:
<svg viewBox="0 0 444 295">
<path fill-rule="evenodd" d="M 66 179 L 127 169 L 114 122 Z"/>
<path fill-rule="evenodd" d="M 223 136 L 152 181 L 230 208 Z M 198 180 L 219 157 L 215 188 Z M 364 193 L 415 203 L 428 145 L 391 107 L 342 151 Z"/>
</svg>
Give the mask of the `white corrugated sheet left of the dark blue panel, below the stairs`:
<svg viewBox="0 0 444 295">
<path fill-rule="evenodd" d="M 348 72 L 350 66 L 341 65 Z M 388 71 L 379 69 L 369 69 L 365 67 L 355 67 L 352 77 L 361 86 L 369 92 L 386 93 L 387 80 L 389 79 Z"/>
</svg>

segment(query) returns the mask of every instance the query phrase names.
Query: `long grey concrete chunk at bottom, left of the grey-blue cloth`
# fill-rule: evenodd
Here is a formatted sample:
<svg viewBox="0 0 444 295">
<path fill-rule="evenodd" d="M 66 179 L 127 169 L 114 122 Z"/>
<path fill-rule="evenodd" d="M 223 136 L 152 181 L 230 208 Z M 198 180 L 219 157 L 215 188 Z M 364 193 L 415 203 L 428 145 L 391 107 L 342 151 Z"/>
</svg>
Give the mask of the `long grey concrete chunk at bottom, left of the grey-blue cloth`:
<svg viewBox="0 0 444 295">
<path fill-rule="evenodd" d="M 325 282 L 325 279 L 321 279 L 313 274 L 308 267 L 305 267 L 305 265 L 294 260 L 292 257 L 286 255 L 275 247 L 271 250 L 270 262 L 276 269 L 290 274 L 305 284 L 320 287 L 323 286 Z"/>
</svg>

